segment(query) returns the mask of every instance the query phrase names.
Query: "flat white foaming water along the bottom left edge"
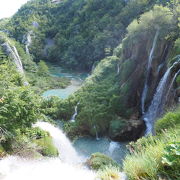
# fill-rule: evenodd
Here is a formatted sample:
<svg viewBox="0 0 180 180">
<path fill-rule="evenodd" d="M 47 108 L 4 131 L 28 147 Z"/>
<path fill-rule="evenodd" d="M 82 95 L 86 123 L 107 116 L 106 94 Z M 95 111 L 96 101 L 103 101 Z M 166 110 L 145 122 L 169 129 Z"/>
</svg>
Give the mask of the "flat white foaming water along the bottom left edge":
<svg viewBox="0 0 180 180">
<path fill-rule="evenodd" d="M 58 158 L 25 160 L 7 157 L 0 161 L 1 180 L 94 180 L 95 174 L 80 166 L 62 163 Z"/>
</svg>

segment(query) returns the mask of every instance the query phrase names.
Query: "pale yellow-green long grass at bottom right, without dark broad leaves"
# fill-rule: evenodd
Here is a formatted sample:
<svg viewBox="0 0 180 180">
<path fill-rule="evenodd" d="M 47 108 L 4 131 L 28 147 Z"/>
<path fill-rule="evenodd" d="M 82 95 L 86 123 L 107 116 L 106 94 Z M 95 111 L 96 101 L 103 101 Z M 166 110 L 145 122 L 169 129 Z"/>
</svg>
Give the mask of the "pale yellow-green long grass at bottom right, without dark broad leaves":
<svg viewBox="0 0 180 180">
<path fill-rule="evenodd" d="M 151 179 L 157 180 L 168 174 L 162 163 L 164 150 L 169 142 L 178 141 L 179 128 L 168 129 L 159 134 L 158 137 L 142 138 L 137 143 L 131 143 L 130 152 L 123 162 L 123 169 L 129 179 Z M 167 173 L 167 174 L 166 174 Z M 169 174 L 169 178 L 178 176 L 178 171 L 174 175 Z M 167 176 L 166 176 L 167 177 Z"/>
</svg>

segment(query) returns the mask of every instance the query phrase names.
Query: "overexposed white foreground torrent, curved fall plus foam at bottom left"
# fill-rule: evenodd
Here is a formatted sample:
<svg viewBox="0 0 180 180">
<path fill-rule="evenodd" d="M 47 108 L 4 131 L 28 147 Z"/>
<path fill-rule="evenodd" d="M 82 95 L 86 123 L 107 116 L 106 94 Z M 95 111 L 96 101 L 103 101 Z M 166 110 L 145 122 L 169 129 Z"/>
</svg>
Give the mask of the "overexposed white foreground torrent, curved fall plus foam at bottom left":
<svg viewBox="0 0 180 180">
<path fill-rule="evenodd" d="M 19 157 L 7 157 L 0 161 L 1 180 L 94 180 L 95 174 L 78 165 L 81 158 L 77 156 L 70 141 L 61 130 L 47 122 L 38 122 L 35 126 L 50 133 L 59 150 L 58 158 L 27 160 Z M 76 165 L 75 165 L 76 164 Z"/>
</svg>

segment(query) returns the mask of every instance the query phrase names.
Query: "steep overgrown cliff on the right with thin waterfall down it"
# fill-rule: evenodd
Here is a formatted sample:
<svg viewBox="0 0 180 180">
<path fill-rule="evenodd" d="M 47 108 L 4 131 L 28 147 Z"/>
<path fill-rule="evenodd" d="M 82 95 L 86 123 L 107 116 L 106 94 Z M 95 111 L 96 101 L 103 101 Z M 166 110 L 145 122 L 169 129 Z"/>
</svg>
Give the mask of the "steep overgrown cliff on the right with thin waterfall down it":
<svg viewBox="0 0 180 180">
<path fill-rule="evenodd" d="M 80 130 L 92 135 L 95 131 L 99 134 L 109 131 L 109 136 L 115 140 L 132 140 L 141 135 L 145 130 L 144 86 L 148 87 L 144 98 L 146 112 L 160 80 L 175 61 L 170 60 L 179 53 L 175 50 L 179 33 L 176 18 L 167 7 L 155 6 L 128 26 L 128 34 L 114 56 L 102 60 L 76 94 L 75 99 L 80 103 L 77 116 Z M 164 85 L 166 89 L 172 88 L 171 98 L 162 103 L 159 101 L 164 96 L 161 96 L 160 112 L 156 116 L 162 113 L 163 104 L 178 101 L 179 84 L 171 85 L 180 69 L 178 58 L 176 60 Z M 164 93 L 166 95 L 167 91 Z"/>
</svg>

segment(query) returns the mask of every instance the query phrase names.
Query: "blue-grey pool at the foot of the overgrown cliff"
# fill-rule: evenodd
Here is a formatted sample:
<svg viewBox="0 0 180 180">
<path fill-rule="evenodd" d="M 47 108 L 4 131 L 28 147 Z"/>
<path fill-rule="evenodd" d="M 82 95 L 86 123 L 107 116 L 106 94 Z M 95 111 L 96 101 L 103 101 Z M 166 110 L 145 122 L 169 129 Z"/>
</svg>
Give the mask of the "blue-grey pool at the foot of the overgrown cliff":
<svg viewBox="0 0 180 180">
<path fill-rule="evenodd" d="M 125 157 L 126 145 L 127 143 L 114 142 L 108 138 L 96 140 L 91 137 L 78 138 L 73 144 L 78 154 L 85 159 L 89 158 L 92 153 L 100 152 L 108 155 L 118 163 L 122 163 Z"/>
</svg>

